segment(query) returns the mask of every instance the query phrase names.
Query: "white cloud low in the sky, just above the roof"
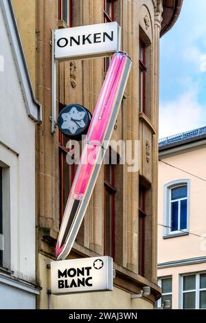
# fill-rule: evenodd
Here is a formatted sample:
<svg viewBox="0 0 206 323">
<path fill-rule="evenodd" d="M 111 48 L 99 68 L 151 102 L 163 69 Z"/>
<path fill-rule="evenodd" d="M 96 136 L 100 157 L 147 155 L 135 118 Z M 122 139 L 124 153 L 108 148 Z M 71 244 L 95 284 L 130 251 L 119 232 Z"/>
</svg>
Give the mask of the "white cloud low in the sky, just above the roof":
<svg viewBox="0 0 206 323">
<path fill-rule="evenodd" d="M 198 103 L 197 91 L 188 91 L 172 102 L 161 104 L 159 138 L 205 126 L 205 110 Z"/>
</svg>

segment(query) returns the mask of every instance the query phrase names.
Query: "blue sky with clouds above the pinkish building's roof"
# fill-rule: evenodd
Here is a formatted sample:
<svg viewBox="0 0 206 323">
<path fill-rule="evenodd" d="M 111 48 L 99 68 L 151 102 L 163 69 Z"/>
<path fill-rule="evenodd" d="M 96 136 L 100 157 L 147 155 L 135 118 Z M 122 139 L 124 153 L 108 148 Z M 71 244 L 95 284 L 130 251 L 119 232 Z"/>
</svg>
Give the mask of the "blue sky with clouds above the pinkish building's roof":
<svg viewBox="0 0 206 323">
<path fill-rule="evenodd" d="M 184 0 L 161 38 L 159 137 L 206 126 L 206 1 Z"/>
</svg>

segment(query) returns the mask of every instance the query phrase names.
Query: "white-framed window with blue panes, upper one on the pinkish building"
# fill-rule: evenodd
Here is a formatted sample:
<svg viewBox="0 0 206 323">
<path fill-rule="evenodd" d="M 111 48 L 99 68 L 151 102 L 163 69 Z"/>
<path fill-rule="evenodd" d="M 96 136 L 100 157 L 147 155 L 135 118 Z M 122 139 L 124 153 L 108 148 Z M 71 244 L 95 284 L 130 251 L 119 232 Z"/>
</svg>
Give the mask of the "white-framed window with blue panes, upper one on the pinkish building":
<svg viewBox="0 0 206 323">
<path fill-rule="evenodd" d="M 164 236 L 188 234 L 190 181 L 173 181 L 165 186 Z"/>
</svg>

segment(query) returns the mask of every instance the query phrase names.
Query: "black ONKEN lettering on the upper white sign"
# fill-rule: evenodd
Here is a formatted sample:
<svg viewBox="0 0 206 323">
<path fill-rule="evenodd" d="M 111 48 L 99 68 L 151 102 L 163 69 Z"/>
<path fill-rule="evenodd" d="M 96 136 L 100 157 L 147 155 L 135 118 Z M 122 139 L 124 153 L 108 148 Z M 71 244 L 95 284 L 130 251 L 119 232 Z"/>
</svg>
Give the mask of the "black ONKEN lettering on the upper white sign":
<svg viewBox="0 0 206 323">
<path fill-rule="evenodd" d="M 95 34 L 83 34 L 78 36 L 70 36 L 69 38 L 59 38 L 57 41 L 58 47 L 66 47 L 73 45 L 88 45 L 88 44 L 95 44 L 95 43 L 105 43 L 108 41 L 113 41 L 114 32 L 96 32 Z"/>
</svg>

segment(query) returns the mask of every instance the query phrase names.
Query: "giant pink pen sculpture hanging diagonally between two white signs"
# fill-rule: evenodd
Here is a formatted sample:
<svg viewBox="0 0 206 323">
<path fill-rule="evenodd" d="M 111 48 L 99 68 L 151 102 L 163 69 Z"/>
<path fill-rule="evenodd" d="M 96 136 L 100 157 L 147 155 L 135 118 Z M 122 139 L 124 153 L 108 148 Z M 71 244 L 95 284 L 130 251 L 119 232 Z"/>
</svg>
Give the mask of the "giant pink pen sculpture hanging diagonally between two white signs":
<svg viewBox="0 0 206 323">
<path fill-rule="evenodd" d="M 116 52 L 113 55 L 69 193 L 56 244 L 57 260 L 67 257 L 78 234 L 111 139 L 130 67 L 131 59 L 128 54 Z"/>
</svg>

